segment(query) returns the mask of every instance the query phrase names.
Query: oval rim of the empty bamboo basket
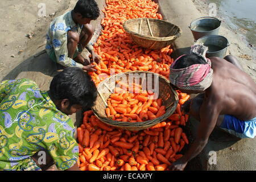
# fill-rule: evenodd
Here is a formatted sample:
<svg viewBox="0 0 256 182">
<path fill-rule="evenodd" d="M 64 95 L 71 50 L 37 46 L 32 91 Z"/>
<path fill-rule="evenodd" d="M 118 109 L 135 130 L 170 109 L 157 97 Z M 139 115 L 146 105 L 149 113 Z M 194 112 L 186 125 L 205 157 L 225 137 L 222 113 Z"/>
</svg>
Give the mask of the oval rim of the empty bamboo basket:
<svg viewBox="0 0 256 182">
<path fill-rule="evenodd" d="M 168 23 L 168 24 L 172 24 L 173 26 L 177 27 L 177 29 L 179 30 L 177 32 L 176 35 L 172 35 L 172 36 L 167 36 L 167 37 L 163 37 L 163 38 L 160 38 L 160 37 L 152 37 L 152 36 L 146 36 L 146 35 L 142 35 L 142 34 L 138 34 L 137 32 L 134 32 L 134 31 L 130 31 L 129 28 L 127 28 L 126 24 L 129 23 L 129 22 L 133 22 L 135 20 L 138 20 L 138 19 L 148 19 L 148 20 L 153 20 L 153 21 L 159 21 L 159 22 L 165 22 L 165 23 Z M 179 26 L 176 26 L 176 24 L 173 24 L 171 22 L 167 22 L 166 20 L 162 20 L 162 19 L 156 19 L 156 18 L 134 18 L 134 19 L 128 19 L 126 20 L 124 23 L 123 23 L 123 29 L 125 29 L 125 31 L 129 34 L 132 34 L 134 36 L 138 36 L 139 38 L 144 38 L 144 39 L 147 39 L 147 40 L 154 40 L 154 41 L 168 41 L 168 40 L 174 40 L 174 39 L 177 39 L 179 38 L 181 35 L 182 35 L 182 30 Z"/>
</svg>

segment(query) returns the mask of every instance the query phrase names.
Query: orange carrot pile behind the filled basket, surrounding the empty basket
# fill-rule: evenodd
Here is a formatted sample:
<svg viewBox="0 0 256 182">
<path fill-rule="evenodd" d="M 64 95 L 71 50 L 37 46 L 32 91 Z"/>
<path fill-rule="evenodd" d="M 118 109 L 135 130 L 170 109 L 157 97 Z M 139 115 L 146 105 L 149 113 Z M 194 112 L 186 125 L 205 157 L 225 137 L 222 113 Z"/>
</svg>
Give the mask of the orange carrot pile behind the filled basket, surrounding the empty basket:
<svg viewBox="0 0 256 182">
<path fill-rule="evenodd" d="M 123 22 L 131 18 L 158 18 L 158 4 L 151 0 L 106 0 L 102 10 L 105 18 L 101 20 L 104 29 L 94 44 L 94 51 L 101 56 L 101 63 L 96 64 L 96 72 L 90 72 L 98 85 L 105 78 L 121 72 L 150 71 L 168 78 L 170 65 L 170 46 L 160 50 L 144 49 L 137 46 L 123 29 Z"/>
</svg>

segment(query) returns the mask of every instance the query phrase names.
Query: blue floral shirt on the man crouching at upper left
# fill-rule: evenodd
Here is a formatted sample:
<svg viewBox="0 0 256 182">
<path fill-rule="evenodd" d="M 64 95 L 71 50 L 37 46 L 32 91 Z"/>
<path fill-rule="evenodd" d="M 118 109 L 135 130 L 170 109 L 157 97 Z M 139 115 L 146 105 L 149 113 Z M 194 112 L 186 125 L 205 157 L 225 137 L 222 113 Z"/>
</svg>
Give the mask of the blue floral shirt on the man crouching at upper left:
<svg viewBox="0 0 256 182">
<path fill-rule="evenodd" d="M 57 63 L 64 67 L 83 67 L 82 64 L 68 57 L 67 47 L 68 31 L 74 28 L 80 34 L 82 27 L 73 21 L 71 11 L 55 18 L 49 27 L 46 35 L 46 52 L 50 55 L 51 51 L 54 51 Z"/>
</svg>

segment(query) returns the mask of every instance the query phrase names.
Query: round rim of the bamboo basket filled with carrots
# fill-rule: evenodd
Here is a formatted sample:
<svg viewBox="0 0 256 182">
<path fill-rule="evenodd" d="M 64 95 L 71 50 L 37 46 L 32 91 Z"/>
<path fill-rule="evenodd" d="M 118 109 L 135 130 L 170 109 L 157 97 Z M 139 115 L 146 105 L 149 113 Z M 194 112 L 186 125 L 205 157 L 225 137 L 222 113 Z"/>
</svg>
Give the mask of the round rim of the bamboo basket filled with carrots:
<svg viewBox="0 0 256 182">
<path fill-rule="evenodd" d="M 158 75 L 159 78 L 162 78 L 163 82 L 165 82 L 167 85 L 170 86 L 170 81 L 168 81 L 167 78 L 163 77 L 162 75 L 159 75 L 158 73 L 148 72 L 148 71 L 131 71 L 131 72 L 118 73 L 117 75 L 112 75 L 112 76 L 106 78 L 104 81 L 100 82 L 101 85 L 99 84 L 98 88 L 100 88 L 100 86 L 102 86 L 105 82 L 108 82 L 113 77 L 116 77 L 116 76 L 119 76 L 119 75 L 127 75 L 129 73 L 150 73 L 150 74 Z M 121 128 L 129 129 L 129 130 L 132 130 L 132 129 L 133 130 L 144 130 L 144 127 L 148 128 L 148 127 L 154 126 L 157 123 L 167 119 L 170 116 L 170 113 L 171 114 L 174 113 L 174 111 L 177 107 L 179 98 L 177 96 L 177 92 L 171 86 L 170 86 L 170 88 L 172 90 L 172 93 L 174 94 L 175 101 L 166 108 L 166 113 L 165 114 L 163 114 L 161 117 L 158 117 L 158 118 L 155 118 L 155 119 L 151 119 L 151 120 L 147 120 L 147 121 L 143 121 L 143 122 L 122 122 L 122 121 L 112 120 L 112 119 L 109 119 L 107 117 L 101 117 L 97 113 L 97 109 L 95 108 L 96 107 L 95 105 L 91 109 L 92 109 L 94 115 L 96 115 L 96 117 L 98 119 L 100 119 L 100 121 L 106 123 L 107 125 L 114 126 L 114 127 L 121 127 Z M 142 127 L 143 127 L 143 129 L 142 129 Z"/>
</svg>

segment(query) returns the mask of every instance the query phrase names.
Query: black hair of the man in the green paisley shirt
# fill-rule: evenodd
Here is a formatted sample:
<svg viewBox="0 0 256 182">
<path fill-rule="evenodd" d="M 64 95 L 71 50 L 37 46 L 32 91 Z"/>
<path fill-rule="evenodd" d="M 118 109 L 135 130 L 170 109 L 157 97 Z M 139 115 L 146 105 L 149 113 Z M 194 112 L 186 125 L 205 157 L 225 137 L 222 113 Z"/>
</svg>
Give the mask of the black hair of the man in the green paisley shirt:
<svg viewBox="0 0 256 182">
<path fill-rule="evenodd" d="M 53 77 L 49 88 L 53 100 L 69 100 L 69 108 L 81 105 L 90 108 L 97 98 L 97 88 L 92 77 L 81 68 L 68 67 Z"/>
</svg>

